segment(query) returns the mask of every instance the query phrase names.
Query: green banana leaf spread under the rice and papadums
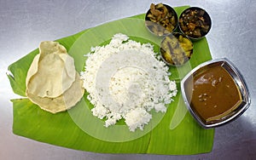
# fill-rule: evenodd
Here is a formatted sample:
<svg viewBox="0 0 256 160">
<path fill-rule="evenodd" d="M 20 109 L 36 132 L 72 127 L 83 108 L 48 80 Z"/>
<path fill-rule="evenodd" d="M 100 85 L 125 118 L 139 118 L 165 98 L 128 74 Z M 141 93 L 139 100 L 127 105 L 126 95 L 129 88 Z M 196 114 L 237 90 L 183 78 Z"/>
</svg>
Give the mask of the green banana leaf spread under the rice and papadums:
<svg viewBox="0 0 256 160">
<path fill-rule="evenodd" d="M 177 7 L 180 14 L 188 6 Z M 84 54 L 90 47 L 109 43 L 115 33 L 124 33 L 140 43 L 154 44 L 154 51 L 160 50 L 160 37 L 152 35 L 144 26 L 145 14 L 115 20 L 88 30 L 56 40 L 64 45 L 73 56 L 77 71 L 84 70 Z M 13 102 L 13 133 L 32 140 L 63 146 L 81 151 L 102 153 L 150 153 L 165 155 L 189 155 L 212 151 L 214 129 L 202 129 L 194 118 L 182 111 L 185 108 L 180 92 L 167 106 L 166 113 L 152 111 L 153 118 L 143 130 L 130 132 L 124 122 L 105 128 L 104 122 L 93 117 L 90 101 L 84 98 L 68 111 L 51 114 L 41 110 L 26 98 L 26 72 L 34 56 L 35 49 L 25 57 L 9 66 L 9 82 L 15 94 L 23 96 Z M 184 66 L 170 67 L 171 79 L 177 82 L 195 66 L 211 60 L 207 39 L 194 42 L 194 53 Z M 178 91 L 180 88 L 178 87 Z M 180 111 L 179 111 L 180 110 Z M 170 128 L 172 117 L 180 117 L 177 127 Z"/>
</svg>

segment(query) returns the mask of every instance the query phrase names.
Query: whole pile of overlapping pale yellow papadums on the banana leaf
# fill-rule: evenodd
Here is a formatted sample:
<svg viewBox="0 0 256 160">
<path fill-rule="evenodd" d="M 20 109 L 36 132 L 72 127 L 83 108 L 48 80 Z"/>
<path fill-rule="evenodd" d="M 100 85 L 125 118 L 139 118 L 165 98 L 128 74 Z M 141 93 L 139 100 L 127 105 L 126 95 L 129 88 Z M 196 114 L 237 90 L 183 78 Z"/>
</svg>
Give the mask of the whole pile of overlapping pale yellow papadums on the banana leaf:
<svg viewBox="0 0 256 160">
<path fill-rule="evenodd" d="M 84 89 L 74 60 L 60 43 L 40 43 L 26 75 L 26 96 L 43 110 L 56 113 L 75 106 Z"/>
</svg>

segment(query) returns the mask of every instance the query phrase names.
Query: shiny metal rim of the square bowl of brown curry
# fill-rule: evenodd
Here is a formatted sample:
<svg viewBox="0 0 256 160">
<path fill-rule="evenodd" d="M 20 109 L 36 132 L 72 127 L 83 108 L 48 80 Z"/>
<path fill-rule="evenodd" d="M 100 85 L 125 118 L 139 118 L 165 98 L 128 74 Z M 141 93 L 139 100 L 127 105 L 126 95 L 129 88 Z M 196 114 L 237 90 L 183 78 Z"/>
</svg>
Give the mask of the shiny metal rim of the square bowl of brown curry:
<svg viewBox="0 0 256 160">
<path fill-rule="evenodd" d="M 237 83 L 241 84 L 240 86 L 238 86 L 238 88 L 239 88 L 240 92 L 242 92 L 241 94 L 245 95 L 244 99 L 243 99 L 244 103 L 241 103 L 241 105 L 238 106 L 238 107 L 241 107 L 241 108 L 238 111 L 236 111 L 235 114 L 233 114 L 230 117 L 224 119 L 223 121 L 218 122 L 218 123 L 207 124 L 207 123 L 204 123 L 201 120 L 201 118 L 195 113 L 195 111 L 193 111 L 192 108 L 190 107 L 189 101 L 187 99 L 187 95 L 185 93 L 184 83 L 189 79 L 189 77 L 191 77 L 195 73 L 195 71 L 201 69 L 204 66 L 208 66 L 208 65 L 211 65 L 211 64 L 214 64 L 214 63 L 218 63 L 218 62 L 222 62 L 223 64 L 226 64 L 227 66 L 230 67 L 231 71 L 234 71 L 236 78 L 233 77 L 232 75 L 230 75 L 230 76 L 233 78 L 233 80 L 235 81 L 236 85 L 238 85 Z M 189 73 L 185 77 L 183 77 L 180 85 L 181 85 L 180 87 L 181 87 L 181 92 L 182 92 L 183 100 L 184 100 L 185 105 L 187 106 L 187 109 L 189 110 L 190 114 L 195 118 L 195 120 L 199 124 L 201 124 L 201 126 L 203 128 L 205 128 L 205 129 L 211 129 L 211 128 L 215 128 L 215 127 L 224 125 L 226 123 L 230 123 L 231 121 L 235 120 L 237 117 L 240 117 L 241 114 L 244 111 L 246 111 L 247 108 L 251 104 L 251 98 L 250 98 L 250 93 L 249 93 L 249 90 L 248 90 L 248 87 L 247 87 L 247 83 L 245 82 L 244 77 L 241 75 L 241 71 L 239 71 L 236 68 L 236 66 L 230 60 L 228 60 L 227 58 L 218 58 L 218 59 L 214 59 L 214 60 L 208 60 L 208 61 L 202 63 L 201 65 L 196 66 L 194 69 L 189 71 Z"/>
</svg>

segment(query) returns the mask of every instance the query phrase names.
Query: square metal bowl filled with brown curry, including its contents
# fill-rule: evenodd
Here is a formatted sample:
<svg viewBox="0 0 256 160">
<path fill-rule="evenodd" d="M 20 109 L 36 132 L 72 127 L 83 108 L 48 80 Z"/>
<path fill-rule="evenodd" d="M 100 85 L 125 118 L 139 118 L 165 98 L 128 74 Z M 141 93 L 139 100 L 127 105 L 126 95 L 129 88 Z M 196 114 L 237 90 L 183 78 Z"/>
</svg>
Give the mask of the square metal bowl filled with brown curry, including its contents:
<svg viewBox="0 0 256 160">
<path fill-rule="evenodd" d="M 183 100 L 205 129 L 230 123 L 247 110 L 247 84 L 230 60 L 209 60 L 196 66 L 181 82 Z"/>
</svg>

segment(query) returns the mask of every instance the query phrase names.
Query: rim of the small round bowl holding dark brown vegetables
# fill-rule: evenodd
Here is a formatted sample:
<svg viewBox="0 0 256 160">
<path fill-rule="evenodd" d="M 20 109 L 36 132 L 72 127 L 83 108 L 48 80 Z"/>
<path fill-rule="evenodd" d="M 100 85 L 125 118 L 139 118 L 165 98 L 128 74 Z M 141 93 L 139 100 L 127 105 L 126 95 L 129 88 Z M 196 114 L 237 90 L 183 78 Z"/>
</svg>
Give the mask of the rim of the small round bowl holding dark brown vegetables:
<svg viewBox="0 0 256 160">
<path fill-rule="evenodd" d="M 202 36 L 202 37 L 190 37 L 189 35 L 186 35 L 186 34 L 183 32 L 183 30 L 182 30 L 182 28 L 181 28 L 181 26 L 180 26 L 179 20 L 181 19 L 183 13 L 186 12 L 188 9 L 200 9 L 200 10 L 205 11 L 205 14 L 207 14 L 207 16 L 208 16 L 208 18 L 209 18 L 209 22 L 210 22 L 210 24 L 209 24 L 210 27 L 209 27 L 207 33 L 206 33 L 204 36 Z M 189 37 L 190 39 L 192 39 L 192 40 L 200 40 L 201 38 L 206 37 L 207 34 L 210 32 L 210 30 L 211 30 L 211 28 L 212 28 L 212 19 L 211 19 L 210 14 L 207 13 L 206 9 L 202 9 L 202 8 L 200 8 L 200 7 L 189 7 L 188 9 L 184 9 L 183 12 L 178 16 L 177 26 L 178 26 L 179 31 L 181 31 L 184 35 L 188 36 L 188 37 Z"/>
</svg>

